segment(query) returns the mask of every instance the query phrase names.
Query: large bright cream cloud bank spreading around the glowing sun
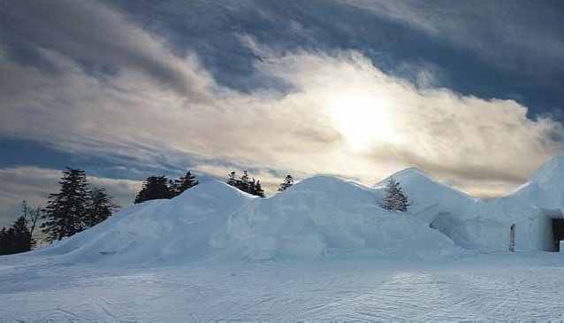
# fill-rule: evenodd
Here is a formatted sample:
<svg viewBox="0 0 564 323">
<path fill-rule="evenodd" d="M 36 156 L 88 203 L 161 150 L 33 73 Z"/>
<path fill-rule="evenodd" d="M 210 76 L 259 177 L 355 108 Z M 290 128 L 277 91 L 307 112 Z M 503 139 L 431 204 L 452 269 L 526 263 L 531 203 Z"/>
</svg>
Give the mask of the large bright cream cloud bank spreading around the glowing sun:
<svg viewBox="0 0 564 323">
<path fill-rule="evenodd" d="M 409 67 L 417 73 L 408 78 L 414 85 L 384 73 L 361 52 L 280 52 L 240 35 L 257 56 L 255 72 L 287 85 L 240 93 L 218 85 L 194 54 L 175 56 L 103 4 L 72 10 L 84 6 L 93 16 L 87 23 L 108 13 L 102 21 L 111 30 L 89 37 L 80 31 L 86 27 L 74 31 L 71 23 L 61 27 L 65 36 L 57 44 L 40 42 L 37 52 L 57 73 L 0 58 L 1 136 L 137 164 L 179 165 L 189 158 L 196 171 L 222 177 L 226 169 L 213 165 L 223 161 L 257 170 L 271 192 L 286 173 L 374 183 L 415 165 L 469 193 L 494 196 L 564 148 L 564 131 L 553 119 L 529 119 L 527 107 L 511 100 L 433 88 L 437 76 L 428 65 Z M 74 49 L 83 35 L 84 49 Z M 103 35 L 132 40 L 108 44 Z M 100 78 L 81 62 L 94 59 L 86 51 L 96 46 L 118 73 Z M 152 65 L 166 73 L 151 73 Z M 278 174 L 284 175 L 277 180 Z"/>
</svg>

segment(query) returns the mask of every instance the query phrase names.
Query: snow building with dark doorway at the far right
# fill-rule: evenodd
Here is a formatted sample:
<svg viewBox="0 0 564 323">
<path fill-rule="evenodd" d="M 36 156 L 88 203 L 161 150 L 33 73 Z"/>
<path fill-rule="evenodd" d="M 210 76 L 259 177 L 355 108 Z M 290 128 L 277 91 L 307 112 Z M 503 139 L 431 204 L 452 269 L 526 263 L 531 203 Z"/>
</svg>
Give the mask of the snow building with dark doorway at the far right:
<svg viewBox="0 0 564 323">
<path fill-rule="evenodd" d="M 408 193 L 410 212 L 465 249 L 560 251 L 564 238 L 562 156 L 542 165 L 513 194 L 489 201 L 433 181 L 416 168 L 393 177 Z"/>
</svg>

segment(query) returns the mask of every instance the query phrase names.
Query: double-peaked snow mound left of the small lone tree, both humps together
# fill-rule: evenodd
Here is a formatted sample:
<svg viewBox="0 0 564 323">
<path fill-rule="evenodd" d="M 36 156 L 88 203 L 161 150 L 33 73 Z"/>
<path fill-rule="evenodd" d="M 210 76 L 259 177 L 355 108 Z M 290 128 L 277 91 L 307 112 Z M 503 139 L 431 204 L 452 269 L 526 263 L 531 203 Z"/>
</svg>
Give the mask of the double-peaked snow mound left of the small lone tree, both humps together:
<svg viewBox="0 0 564 323">
<path fill-rule="evenodd" d="M 414 215 L 386 211 L 379 202 L 377 189 L 332 177 L 301 181 L 270 198 L 210 182 L 171 200 L 133 205 L 32 254 L 108 265 L 468 254 Z"/>
</svg>

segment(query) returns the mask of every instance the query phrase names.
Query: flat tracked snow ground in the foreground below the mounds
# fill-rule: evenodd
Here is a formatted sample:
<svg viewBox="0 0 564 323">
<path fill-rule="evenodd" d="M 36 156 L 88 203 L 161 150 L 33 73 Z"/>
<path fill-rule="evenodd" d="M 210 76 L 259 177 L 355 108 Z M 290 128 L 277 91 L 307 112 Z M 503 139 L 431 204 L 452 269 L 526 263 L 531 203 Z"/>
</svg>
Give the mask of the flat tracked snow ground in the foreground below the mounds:
<svg viewBox="0 0 564 323">
<path fill-rule="evenodd" d="M 48 260 L 47 260 L 48 261 Z M 564 319 L 564 255 L 198 262 L 135 268 L 0 258 L 0 320 Z"/>
</svg>

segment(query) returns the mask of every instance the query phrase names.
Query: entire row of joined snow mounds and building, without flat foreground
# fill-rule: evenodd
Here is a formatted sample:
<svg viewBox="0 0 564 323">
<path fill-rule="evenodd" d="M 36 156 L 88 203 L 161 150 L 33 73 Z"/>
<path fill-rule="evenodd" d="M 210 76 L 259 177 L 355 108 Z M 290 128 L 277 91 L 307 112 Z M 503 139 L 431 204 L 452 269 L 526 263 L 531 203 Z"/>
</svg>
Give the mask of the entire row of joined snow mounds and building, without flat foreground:
<svg viewBox="0 0 564 323">
<path fill-rule="evenodd" d="M 269 198 L 211 181 L 171 200 L 119 211 L 80 234 L 34 250 L 65 263 L 169 265 L 195 259 L 460 258 L 478 251 L 555 250 L 564 207 L 564 157 L 513 194 L 483 202 L 416 168 L 393 174 L 408 212 L 379 206 L 370 188 L 334 177 L 301 181 Z"/>
</svg>

